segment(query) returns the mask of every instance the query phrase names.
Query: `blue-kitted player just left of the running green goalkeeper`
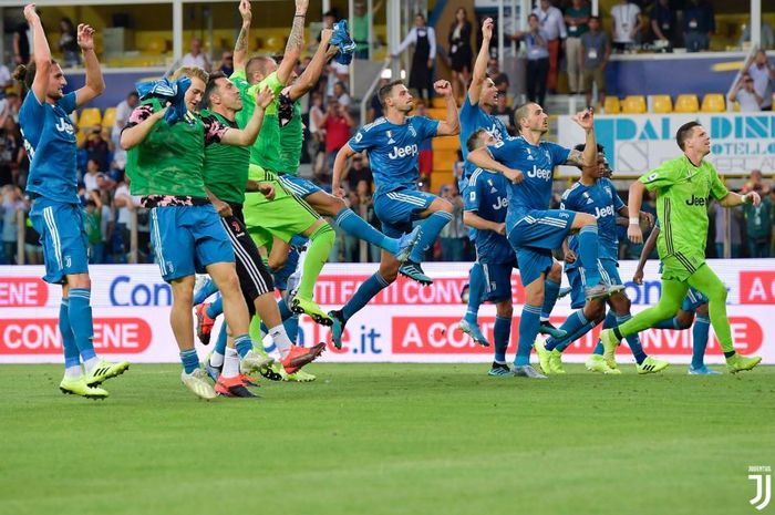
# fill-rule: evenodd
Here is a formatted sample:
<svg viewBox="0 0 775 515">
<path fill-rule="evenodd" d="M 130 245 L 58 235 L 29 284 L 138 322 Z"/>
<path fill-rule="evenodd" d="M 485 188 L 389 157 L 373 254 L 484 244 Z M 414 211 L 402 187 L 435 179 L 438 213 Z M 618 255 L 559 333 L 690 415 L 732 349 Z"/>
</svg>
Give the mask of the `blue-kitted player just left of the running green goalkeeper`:
<svg viewBox="0 0 775 515">
<path fill-rule="evenodd" d="M 585 145 L 577 145 L 577 151 L 583 152 Z M 536 340 L 536 351 L 544 373 L 565 373 L 561 357 L 570 343 L 582 338 L 600 321 L 603 328 L 614 327 L 631 318 L 630 299 L 624 292 L 622 280 L 619 277 L 619 239 L 617 237 L 617 215 L 627 215 L 627 206 L 619 197 L 613 183 L 604 177 L 608 163 L 603 155 L 602 146 L 598 145 L 596 163 L 581 168 L 581 178 L 570 189 L 562 194 L 560 209 L 569 209 L 577 213 L 587 213 L 598 220 L 598 235 L 600 241 L 600 274 L 610 285 L 620 287 L 608 299 L 589 299 L 585 301 L 582 271 L 579 269 L 576 256 L 579 254 L 579 243 L 576 236 L 566 238 L 565 271 L 571 286 L 570 307 L 577 309 L 570 315 L 561 329 L 568 331 L 567 338 L 549 338 L 546 342 Z M 641 219 L 653 224 L 651 215 L 640 214 Z M 611 309 L 606 315 L 606 303 Z M 655 373 L 668 367 L 666 361 L 647 356 L 638 334 L 628 338 L 630 350 L 636 358 L 638 373 Z M 602 357 L 592 354 L 587 361 L 587 368 L 595 372 L 621 373 L 618 369 L 610 369 Z"/>
</svg>

